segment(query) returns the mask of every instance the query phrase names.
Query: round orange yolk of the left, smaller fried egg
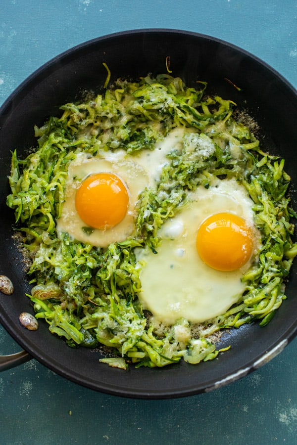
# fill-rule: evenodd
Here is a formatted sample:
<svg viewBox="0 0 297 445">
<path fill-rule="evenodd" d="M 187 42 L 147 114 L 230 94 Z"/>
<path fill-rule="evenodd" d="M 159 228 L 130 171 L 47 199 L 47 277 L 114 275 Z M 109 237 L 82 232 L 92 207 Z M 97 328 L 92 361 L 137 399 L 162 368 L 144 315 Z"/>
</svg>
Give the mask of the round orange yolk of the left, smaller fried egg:
<svg viewBox="0 0 297 445">
<path fill-rule="evenodd" d="M 129 194 L 113 173 L 97 173 L 84 179 L 75 195 L 75 207 L 84 223 L 96 229 L 114 227 L 127 213 Z"/>
</svg>

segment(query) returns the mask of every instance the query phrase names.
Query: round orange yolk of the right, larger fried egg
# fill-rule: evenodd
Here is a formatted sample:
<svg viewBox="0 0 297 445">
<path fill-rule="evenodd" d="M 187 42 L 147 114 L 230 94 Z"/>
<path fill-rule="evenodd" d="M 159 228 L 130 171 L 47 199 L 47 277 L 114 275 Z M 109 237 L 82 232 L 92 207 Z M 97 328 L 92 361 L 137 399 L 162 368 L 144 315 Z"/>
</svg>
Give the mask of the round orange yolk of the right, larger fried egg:
<svg viewBox="0 0 297 445">
<path fill-rule="evenodd" d="M 237 215 L 212 215 L 198 229 L 197 250 L 201 260 L 209 267 L 222 271 L 236 270 L 251 256 L 251 230 Z"/>
</svg>

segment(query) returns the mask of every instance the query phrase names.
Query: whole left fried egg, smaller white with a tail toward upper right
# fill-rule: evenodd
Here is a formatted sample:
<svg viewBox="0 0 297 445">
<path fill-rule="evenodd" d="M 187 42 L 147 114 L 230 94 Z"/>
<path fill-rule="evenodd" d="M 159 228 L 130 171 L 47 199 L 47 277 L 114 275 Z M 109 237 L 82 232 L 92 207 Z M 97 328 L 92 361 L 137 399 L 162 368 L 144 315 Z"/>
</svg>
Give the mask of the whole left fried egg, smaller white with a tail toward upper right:
<svg viewBox="0 0 297 445">
<path fill-rule="evenodd" d="M 178 128 L 156 143 L 129 155 L 124 150 L 99 150 L 94 157 L 81 152 L 69 163 L 65 201 L 57 233 L 71 239 L 107 247 L 121 242 L 135 229 L 139 194 L 154 187 L 169 163 L 171 150 L 180 150 L 185 130 Z"/>
</svg>

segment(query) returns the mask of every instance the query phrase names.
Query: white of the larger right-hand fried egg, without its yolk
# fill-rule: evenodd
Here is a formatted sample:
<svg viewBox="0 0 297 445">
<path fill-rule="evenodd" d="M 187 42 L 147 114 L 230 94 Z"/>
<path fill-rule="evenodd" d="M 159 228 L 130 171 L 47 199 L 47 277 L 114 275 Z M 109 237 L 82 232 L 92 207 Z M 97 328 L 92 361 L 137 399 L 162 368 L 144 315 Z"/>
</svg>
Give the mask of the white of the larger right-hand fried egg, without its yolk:
<svg viewBox="0 0 297 445">
<path fill-rule="evenodd" d="M 245 290 L 242 275 L 259 249 L 260 235 L 253 224 L 252 201 L 236 180 L 216 179 L 209 189 L 190 193 L 188 205 L 163 224 L 158 253 L 138 251 L 142 265 L 144 309 L 164 323 L 184 317 L 202 322 L 226 312 Z M 253 255 L 245 266 L 231 272 L 214 270 L 200 259 L 196 237 L 200 223 L 208 216 L 229 212 L 244 218 L 253 233 Z"/>
</svg>

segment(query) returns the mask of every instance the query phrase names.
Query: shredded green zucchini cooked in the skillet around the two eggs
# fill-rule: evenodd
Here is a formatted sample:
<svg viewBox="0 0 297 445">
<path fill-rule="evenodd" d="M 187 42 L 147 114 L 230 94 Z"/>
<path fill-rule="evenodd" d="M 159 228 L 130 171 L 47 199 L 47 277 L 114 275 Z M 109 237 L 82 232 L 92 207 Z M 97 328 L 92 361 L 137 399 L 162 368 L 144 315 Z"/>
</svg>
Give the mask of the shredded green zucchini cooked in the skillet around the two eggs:
<svg viewBox="0 0 297 445">
<path fill-rule="evenodd" d="M 14 209 L 17 230 L 31 259 L 28 270 L 37 318 L 71 347 L 110 348 L 112 357 L 101 361 L 127 369 L 165 366 L 184 359 L 198 363 L 214 359 L 220 351 L 210 334 L 259 320 L 267 324 L 285 296 L 297 244 L 292 241 L 295 212 L 286 195 L 290 177 L 284 160 L 264 153 L 255 135 L 233 117 L 234 102 L 208 97 L 206 83 L 188 88 L 180 78 L 159 75 L 140 82 L 119 79 L 114 86 L 79 103 L 61 107 L 35 128 L 38 147 L 25 159 L 12 153 L 7 205 Z M 182 153 L 168 155 L 156 189 L 140 195 L 135 232 L 107 248 L 58 237 L 69 163 L 85 151 L 124 149 L 133 156 L 153 149 L 170 130 L 195 129 Z M 210 140 L 214 152 L 201 156 L 201 143 Z M 193 148 L 193 147 L 192 147 Z M 255 226 L 262 247 L 259 261 L 245 273 L 247 291 L 226 313 L 207 320 L 200 334 L 185 319 L 167 327 L 162 335 L 149 323 L 138 300 L 141 289 L 135 249 L 149 246 L 156 252 L 158 229 L 186 200 L 187 191 L 209 186 L 213 176 L 235 178 L 252 201 Z M 86 228 L 87 230 L 88 228 Z M 196 331 L 197 332 L 197 331 Z M 181 334 L 182 333 L 182 334 Z"/>
</svg>

